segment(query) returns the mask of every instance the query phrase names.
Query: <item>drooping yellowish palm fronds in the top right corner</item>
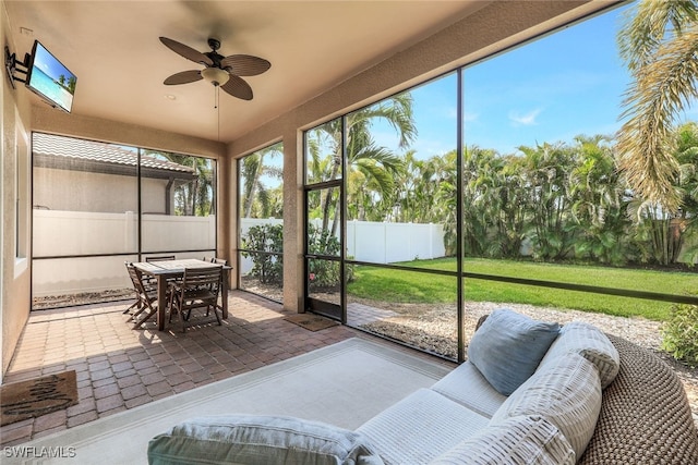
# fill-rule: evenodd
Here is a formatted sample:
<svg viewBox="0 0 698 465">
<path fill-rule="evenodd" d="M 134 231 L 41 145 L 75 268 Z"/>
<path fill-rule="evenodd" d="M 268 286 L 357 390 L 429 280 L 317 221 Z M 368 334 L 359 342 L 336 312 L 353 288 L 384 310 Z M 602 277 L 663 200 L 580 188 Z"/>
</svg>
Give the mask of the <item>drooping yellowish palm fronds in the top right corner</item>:
<svg viewBox="0 0 698 465">
<path fill-rule="evenodd" d="M 641 0 L 618 34 L 634 82 L 623 102 L 619 167 L 635 194 L 675 211 L 672 123 L 698 97 L 698 2 Z"/>
</svg>

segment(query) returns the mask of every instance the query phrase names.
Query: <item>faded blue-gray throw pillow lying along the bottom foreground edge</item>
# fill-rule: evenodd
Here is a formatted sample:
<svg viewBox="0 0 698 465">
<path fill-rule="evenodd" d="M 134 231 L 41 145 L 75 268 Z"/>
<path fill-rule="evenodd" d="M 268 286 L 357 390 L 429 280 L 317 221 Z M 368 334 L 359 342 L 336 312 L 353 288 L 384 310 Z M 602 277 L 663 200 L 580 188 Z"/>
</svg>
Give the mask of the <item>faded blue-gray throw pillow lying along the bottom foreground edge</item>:
<svg viewBox="0 0 698 465">
<path fill-rule="evenodd" d="M 284 416 L 193 418 L 153 438 L 148 464 L 382 465 L 354 431 Z"/>
</svg>

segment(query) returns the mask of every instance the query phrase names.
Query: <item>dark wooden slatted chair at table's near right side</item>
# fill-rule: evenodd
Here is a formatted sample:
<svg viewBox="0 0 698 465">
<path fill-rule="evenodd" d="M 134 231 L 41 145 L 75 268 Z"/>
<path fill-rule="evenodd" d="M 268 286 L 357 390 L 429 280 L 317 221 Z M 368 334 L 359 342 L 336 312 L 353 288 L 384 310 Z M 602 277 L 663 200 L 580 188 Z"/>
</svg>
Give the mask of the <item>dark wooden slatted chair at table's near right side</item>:
<svg viewBox="0 0 698 465">
<path fill-rule="evenodd" d="M 186 332 L 188 323 L 191 326 L 192 310 L 206 308 L 206 316 L 214 310 L 216 321 L 222 325 L 218 316 L 218 293 L 220 292 L 221 268 L 185 268 L 181 282 L 170 286 L 170 321 L 177 315 L 182 332 Z"/>
</svg>

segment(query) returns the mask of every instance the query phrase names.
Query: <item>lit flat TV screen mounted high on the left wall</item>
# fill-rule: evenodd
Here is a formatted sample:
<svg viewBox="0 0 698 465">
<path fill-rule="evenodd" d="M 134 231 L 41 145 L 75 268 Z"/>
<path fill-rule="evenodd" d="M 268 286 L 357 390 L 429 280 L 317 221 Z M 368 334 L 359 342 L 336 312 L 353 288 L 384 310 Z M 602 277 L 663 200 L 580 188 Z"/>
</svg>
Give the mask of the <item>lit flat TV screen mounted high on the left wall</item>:
<svg viewBox="0 0 698 465">
<path fill-rule="evenodd" d="M 49 105 L 70 113 L 77 77 L 56 59 L 38 40 L 32 48 L 26 86 Z"/>
</svg>

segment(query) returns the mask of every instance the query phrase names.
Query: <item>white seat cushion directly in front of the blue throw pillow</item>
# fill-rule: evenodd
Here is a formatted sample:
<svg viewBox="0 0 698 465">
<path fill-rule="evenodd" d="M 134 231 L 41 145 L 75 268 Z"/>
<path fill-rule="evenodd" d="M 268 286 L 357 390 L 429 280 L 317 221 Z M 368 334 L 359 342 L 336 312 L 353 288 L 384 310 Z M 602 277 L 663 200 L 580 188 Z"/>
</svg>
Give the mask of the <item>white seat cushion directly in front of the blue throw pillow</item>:
<svg viewBox="0 0 698 465">
<path fill-rule="evenodd" d="M 470 362 L 460 364 L 431 389 L 488 418 L 506 401 Z"/>
</svg>

